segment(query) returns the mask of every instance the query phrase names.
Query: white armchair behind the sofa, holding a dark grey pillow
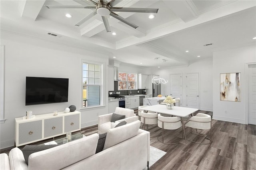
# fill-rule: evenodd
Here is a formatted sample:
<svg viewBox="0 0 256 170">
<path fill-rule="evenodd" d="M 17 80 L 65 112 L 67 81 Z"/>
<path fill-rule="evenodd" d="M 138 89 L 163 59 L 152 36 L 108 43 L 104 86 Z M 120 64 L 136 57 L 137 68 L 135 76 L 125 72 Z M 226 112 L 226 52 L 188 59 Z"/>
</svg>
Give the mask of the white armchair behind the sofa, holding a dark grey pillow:
<svg viewBox="0 0 256 170">
<path fill-rule="evenodd" d="M 126 123 L 131 123 L 134 121 L 138 121 L 138 116 L 134 114 L 134 110 L 126 109 L 122 107 L 116 107 L 115 113 L 118 115 L 125 115 L 124 119 L 120 119 L 115 122 L 111 122 L 111 118 L 113 113 L 109 113 L 106 115 L 100 115 L 98 117 L 98 133 L 102 134 L 108 131 L 110 128 L 114 128 L 118 123 L 122 121 L 126 121 Z"/>
</svg>

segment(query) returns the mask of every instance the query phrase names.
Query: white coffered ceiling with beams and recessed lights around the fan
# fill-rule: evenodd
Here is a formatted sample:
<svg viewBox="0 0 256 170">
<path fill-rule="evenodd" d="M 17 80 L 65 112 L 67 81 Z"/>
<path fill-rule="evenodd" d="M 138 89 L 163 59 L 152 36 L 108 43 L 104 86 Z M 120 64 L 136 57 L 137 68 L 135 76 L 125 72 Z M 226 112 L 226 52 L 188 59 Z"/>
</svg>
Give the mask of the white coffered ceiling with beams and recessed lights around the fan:
<svg viewBox="0 0 256 170">
<path fill-rule="evenodd" d="M 211 59 L 214 50 L 256 43 L 252 39 L 256 37 L 255 0 L 116 0 L 113 4 L 159 10 L 154 19 L 148 13 L 116 12 L 139 27 L 109 17 L 110 29 L 117 34 L 113 36 L 98 14 L 74 26 L 92 9 L 44 6 L 95 6 L 87 0 L 1 0 L 1 30 L 100 51 L 140 67 L 189 65 Z M 66 18 L 66 13 L 73 17 Z"/>
</svg>

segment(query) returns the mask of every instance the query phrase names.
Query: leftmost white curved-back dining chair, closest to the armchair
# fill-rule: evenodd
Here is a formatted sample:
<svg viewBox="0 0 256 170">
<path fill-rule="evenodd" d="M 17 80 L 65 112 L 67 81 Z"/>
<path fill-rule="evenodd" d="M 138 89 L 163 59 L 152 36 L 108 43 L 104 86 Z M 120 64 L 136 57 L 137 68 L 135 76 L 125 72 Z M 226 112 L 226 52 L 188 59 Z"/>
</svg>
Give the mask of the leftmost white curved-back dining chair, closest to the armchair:
<svg viewBox="0 0 256 170">
<path fill-rule="evenodd" d="M 156 125 L 157 124 L 157 115 L 158 113 L 150 112 L 146 113 L 146 111 L 141 111 L 141 122 L 143 123 L 142 128 L 146 129 L 146 125 Z"/>
</svg>

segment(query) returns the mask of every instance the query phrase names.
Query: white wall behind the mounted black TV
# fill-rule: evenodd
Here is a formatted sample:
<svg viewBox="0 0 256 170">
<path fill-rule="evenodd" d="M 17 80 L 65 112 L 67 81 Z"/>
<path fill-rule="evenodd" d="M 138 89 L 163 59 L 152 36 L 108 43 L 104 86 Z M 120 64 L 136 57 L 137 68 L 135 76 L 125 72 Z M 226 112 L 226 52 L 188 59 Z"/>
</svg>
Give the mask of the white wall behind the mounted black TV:
<svg viewBox="0 0 256 170">
<path fill-rule="evenodd" d="M 5 45 L 5 121 L 0 125 L 0 147 L 14 146 L 14 122 L 23 117 L 27 110 L 33 115 L 52 113 L 54 109 L 64 111 L 75 105 L 81 111 L 81 127 L 98 123 L 98 115 L 108 113 L 108 83 L 104 83 L 104 103 L 106 107 L 81 109 L 82 99 L 82 59 L 104 63 L 104 82 L 108 81 L 108 55 L 85 49 L 78 49 L 1 32 L 1 45 Z M 26 76 L 69 78 L 67 103 L 25 106 Z M 81 109 L 81 110 L 80 110 Z"/>
</svg>

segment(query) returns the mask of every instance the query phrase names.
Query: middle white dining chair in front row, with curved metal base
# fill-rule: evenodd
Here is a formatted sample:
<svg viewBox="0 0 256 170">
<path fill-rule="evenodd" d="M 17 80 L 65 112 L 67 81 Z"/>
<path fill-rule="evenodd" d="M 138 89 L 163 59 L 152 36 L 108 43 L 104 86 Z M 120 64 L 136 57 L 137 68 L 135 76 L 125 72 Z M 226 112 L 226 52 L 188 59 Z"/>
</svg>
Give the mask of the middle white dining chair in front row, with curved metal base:
<svg viewBox="0 0 256 170">
<path fill-rule="evenodd" d="M 162 128 L 162 141 L 158 139 L 159 142 L 162 142 L 164 144 L 178 144 L 180 140 L 183 138 L 183 133 L 182 133 L 182 138 L 176 142 L 176 143 L 166 143 L 164 142 L 164 130 L 176 130 L 180 127 L 182 127 L 182 123 L 180 120 L 180 117 L 165 117 L 163 114 L 158 114 L 158 127 Z"/>
</svg>

